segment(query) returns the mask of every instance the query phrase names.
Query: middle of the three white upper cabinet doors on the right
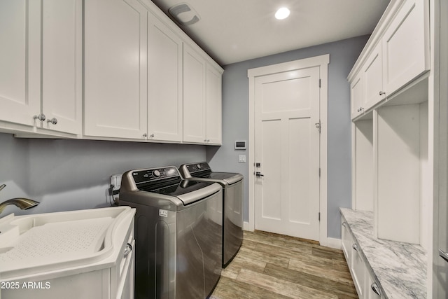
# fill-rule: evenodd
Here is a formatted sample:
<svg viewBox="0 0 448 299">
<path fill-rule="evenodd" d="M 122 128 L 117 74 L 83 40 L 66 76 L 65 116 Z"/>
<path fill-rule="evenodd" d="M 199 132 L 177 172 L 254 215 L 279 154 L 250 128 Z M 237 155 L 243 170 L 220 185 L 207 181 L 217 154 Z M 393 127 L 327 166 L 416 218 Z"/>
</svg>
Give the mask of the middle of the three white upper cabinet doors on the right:
<svg viewBox="0 0 448 299">
<path fill-rule="evenodd" d="M 363 66 L 363 108 L 370 109 L 386 97 L 383 90 L 381 42 L 377 44 Z"/>
</svg>

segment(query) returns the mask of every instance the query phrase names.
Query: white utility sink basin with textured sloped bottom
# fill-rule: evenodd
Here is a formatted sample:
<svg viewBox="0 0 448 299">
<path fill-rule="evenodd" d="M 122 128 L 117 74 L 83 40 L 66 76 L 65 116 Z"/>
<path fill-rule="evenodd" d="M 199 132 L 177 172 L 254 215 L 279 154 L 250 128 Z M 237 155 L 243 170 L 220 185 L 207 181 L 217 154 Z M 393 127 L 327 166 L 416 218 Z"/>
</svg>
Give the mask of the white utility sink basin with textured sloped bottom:
<svg viewBox="0 0 448 299">
<path fill-rule="evenodd" d="M 0 279 L 104 260 L 113 252 L 114 230 L 130 214 L 130 207 L 111 207 L 3 217 Z"/>
</svg>

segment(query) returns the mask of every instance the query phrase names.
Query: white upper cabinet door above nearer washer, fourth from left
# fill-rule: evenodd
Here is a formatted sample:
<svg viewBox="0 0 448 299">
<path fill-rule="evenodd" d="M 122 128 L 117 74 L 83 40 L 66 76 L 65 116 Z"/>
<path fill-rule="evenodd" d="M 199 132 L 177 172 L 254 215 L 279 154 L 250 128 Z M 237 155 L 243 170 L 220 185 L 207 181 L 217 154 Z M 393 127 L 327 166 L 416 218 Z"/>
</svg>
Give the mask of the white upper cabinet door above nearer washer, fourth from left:
<svg viewBox="0 0 448 299">
<path fill-rule="evenodd" d="M 148 139 L 182 141 L 182 41 L 148 13 Z"/>
</svg>

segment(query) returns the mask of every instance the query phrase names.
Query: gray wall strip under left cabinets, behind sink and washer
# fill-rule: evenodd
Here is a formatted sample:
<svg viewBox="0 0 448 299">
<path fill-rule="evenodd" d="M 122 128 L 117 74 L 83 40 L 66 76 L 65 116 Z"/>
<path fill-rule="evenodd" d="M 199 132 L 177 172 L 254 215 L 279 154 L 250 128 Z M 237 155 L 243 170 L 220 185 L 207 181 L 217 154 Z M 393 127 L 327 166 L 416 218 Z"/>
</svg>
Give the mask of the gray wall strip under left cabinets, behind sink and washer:
<svg viewBox="0 0 448 299">
<path fill-rule="evenodd" d="M 0 202 L 29 197 L 27 211 L 8 206 L 0 217 L 109 207 L 109 177 L 130 169 L 180 166 L 206 159 L 205 146 L 139 142 L 17 139 L 0 134 Z"/>
</svg>

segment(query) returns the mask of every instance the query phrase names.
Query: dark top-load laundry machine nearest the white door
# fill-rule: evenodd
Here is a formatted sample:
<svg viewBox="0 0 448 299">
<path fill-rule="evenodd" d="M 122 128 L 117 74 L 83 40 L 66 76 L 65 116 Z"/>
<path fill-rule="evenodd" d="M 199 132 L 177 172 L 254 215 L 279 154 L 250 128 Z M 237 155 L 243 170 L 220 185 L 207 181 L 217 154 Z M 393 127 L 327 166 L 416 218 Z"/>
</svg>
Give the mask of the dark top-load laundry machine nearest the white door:
<svg viewBox="0 0 448 299">
<path fill-rule="evenodd" d="M 179 167 L 184 179 L 215 182 L 223 187 L 223 267 L 236 256 L 243 242 L 243 179 L 242 174 L 213 172 L 207 162 Z"/>
</svg>

